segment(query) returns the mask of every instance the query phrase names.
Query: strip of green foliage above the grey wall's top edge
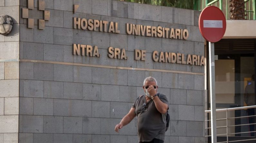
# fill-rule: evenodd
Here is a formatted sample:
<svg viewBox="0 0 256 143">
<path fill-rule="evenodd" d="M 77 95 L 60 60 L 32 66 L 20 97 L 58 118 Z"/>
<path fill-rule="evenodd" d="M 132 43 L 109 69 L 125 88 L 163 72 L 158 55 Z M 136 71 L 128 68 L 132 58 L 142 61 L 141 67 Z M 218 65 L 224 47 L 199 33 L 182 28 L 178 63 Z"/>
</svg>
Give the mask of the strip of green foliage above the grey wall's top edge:
<svg viewBox="0 0 256 143">
<path fill-rule="evenodd" d="M 126 2 L 170 6 L 184 9 L 193 9 L 196 0 L 120 0 Z"/>
</svg>

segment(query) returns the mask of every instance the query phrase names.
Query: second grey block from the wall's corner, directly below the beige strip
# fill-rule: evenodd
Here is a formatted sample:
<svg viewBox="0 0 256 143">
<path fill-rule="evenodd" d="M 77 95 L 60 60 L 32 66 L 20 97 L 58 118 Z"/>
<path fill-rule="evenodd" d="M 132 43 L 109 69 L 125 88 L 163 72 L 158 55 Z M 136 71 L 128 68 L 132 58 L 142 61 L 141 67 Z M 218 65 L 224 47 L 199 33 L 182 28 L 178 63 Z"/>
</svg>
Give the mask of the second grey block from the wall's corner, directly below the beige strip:
<svg viewBox="0 0 256 143">
<path fill-rule="evenodd" d="M 35 80 L 53 80 L 53 64 L 34 63 Z"/>
</svg>

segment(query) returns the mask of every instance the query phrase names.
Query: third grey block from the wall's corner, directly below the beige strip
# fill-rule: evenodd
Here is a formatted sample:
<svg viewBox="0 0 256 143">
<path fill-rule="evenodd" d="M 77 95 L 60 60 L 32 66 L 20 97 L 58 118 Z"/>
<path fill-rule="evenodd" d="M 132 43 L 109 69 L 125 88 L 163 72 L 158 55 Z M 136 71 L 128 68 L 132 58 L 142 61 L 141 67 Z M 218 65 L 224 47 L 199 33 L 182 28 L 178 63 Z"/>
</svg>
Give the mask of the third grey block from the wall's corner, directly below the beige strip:
<svg viewBox="0 0 256 143">
<path fill-rule="evenodd" d="M 73 66 L 54 64 L 54 81 L 73 82 Z"/>
</svg>

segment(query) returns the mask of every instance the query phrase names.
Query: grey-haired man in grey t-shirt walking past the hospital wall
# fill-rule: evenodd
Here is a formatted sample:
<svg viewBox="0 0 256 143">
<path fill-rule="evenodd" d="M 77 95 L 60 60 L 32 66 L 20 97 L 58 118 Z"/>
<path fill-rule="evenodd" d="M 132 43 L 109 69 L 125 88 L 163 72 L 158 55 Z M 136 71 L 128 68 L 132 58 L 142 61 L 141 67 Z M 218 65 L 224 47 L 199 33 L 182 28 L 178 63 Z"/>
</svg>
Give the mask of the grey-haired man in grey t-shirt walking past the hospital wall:
<svg viewBox="0 0 256 143">
<path fill-rule="evenodd" d="M 136 99 L 129 113 L 116 125 L 116 132 L 137 115 L 139 143 L 164 142 L 168 100 L 166 95 L 157 93 L 157 88 L 155 78 L 151 76 L 145 78 L 143 83 L 145 95 Z"/>
</svg>

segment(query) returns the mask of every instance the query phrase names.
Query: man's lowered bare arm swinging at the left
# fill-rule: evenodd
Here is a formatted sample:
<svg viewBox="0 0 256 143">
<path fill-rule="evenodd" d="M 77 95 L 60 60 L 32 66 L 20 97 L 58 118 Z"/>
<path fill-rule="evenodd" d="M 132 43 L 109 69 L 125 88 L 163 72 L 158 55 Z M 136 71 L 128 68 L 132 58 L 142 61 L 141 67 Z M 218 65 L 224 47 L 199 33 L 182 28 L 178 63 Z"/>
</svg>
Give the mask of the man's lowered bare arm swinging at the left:
<svg viewBox="0 0 256 143">
<path fill-rule="evenodd" d="M 116 125 L 115 131 L 119 132 L 119 129 L 121 129 L 123 126 L 127 125 L 128 123 L 130 123 L 135 116 L 136 116 L 135 108 L 132 107 L 129 113 L 123 117 L 123 119 L 119 124 Z"/>
</svg>

